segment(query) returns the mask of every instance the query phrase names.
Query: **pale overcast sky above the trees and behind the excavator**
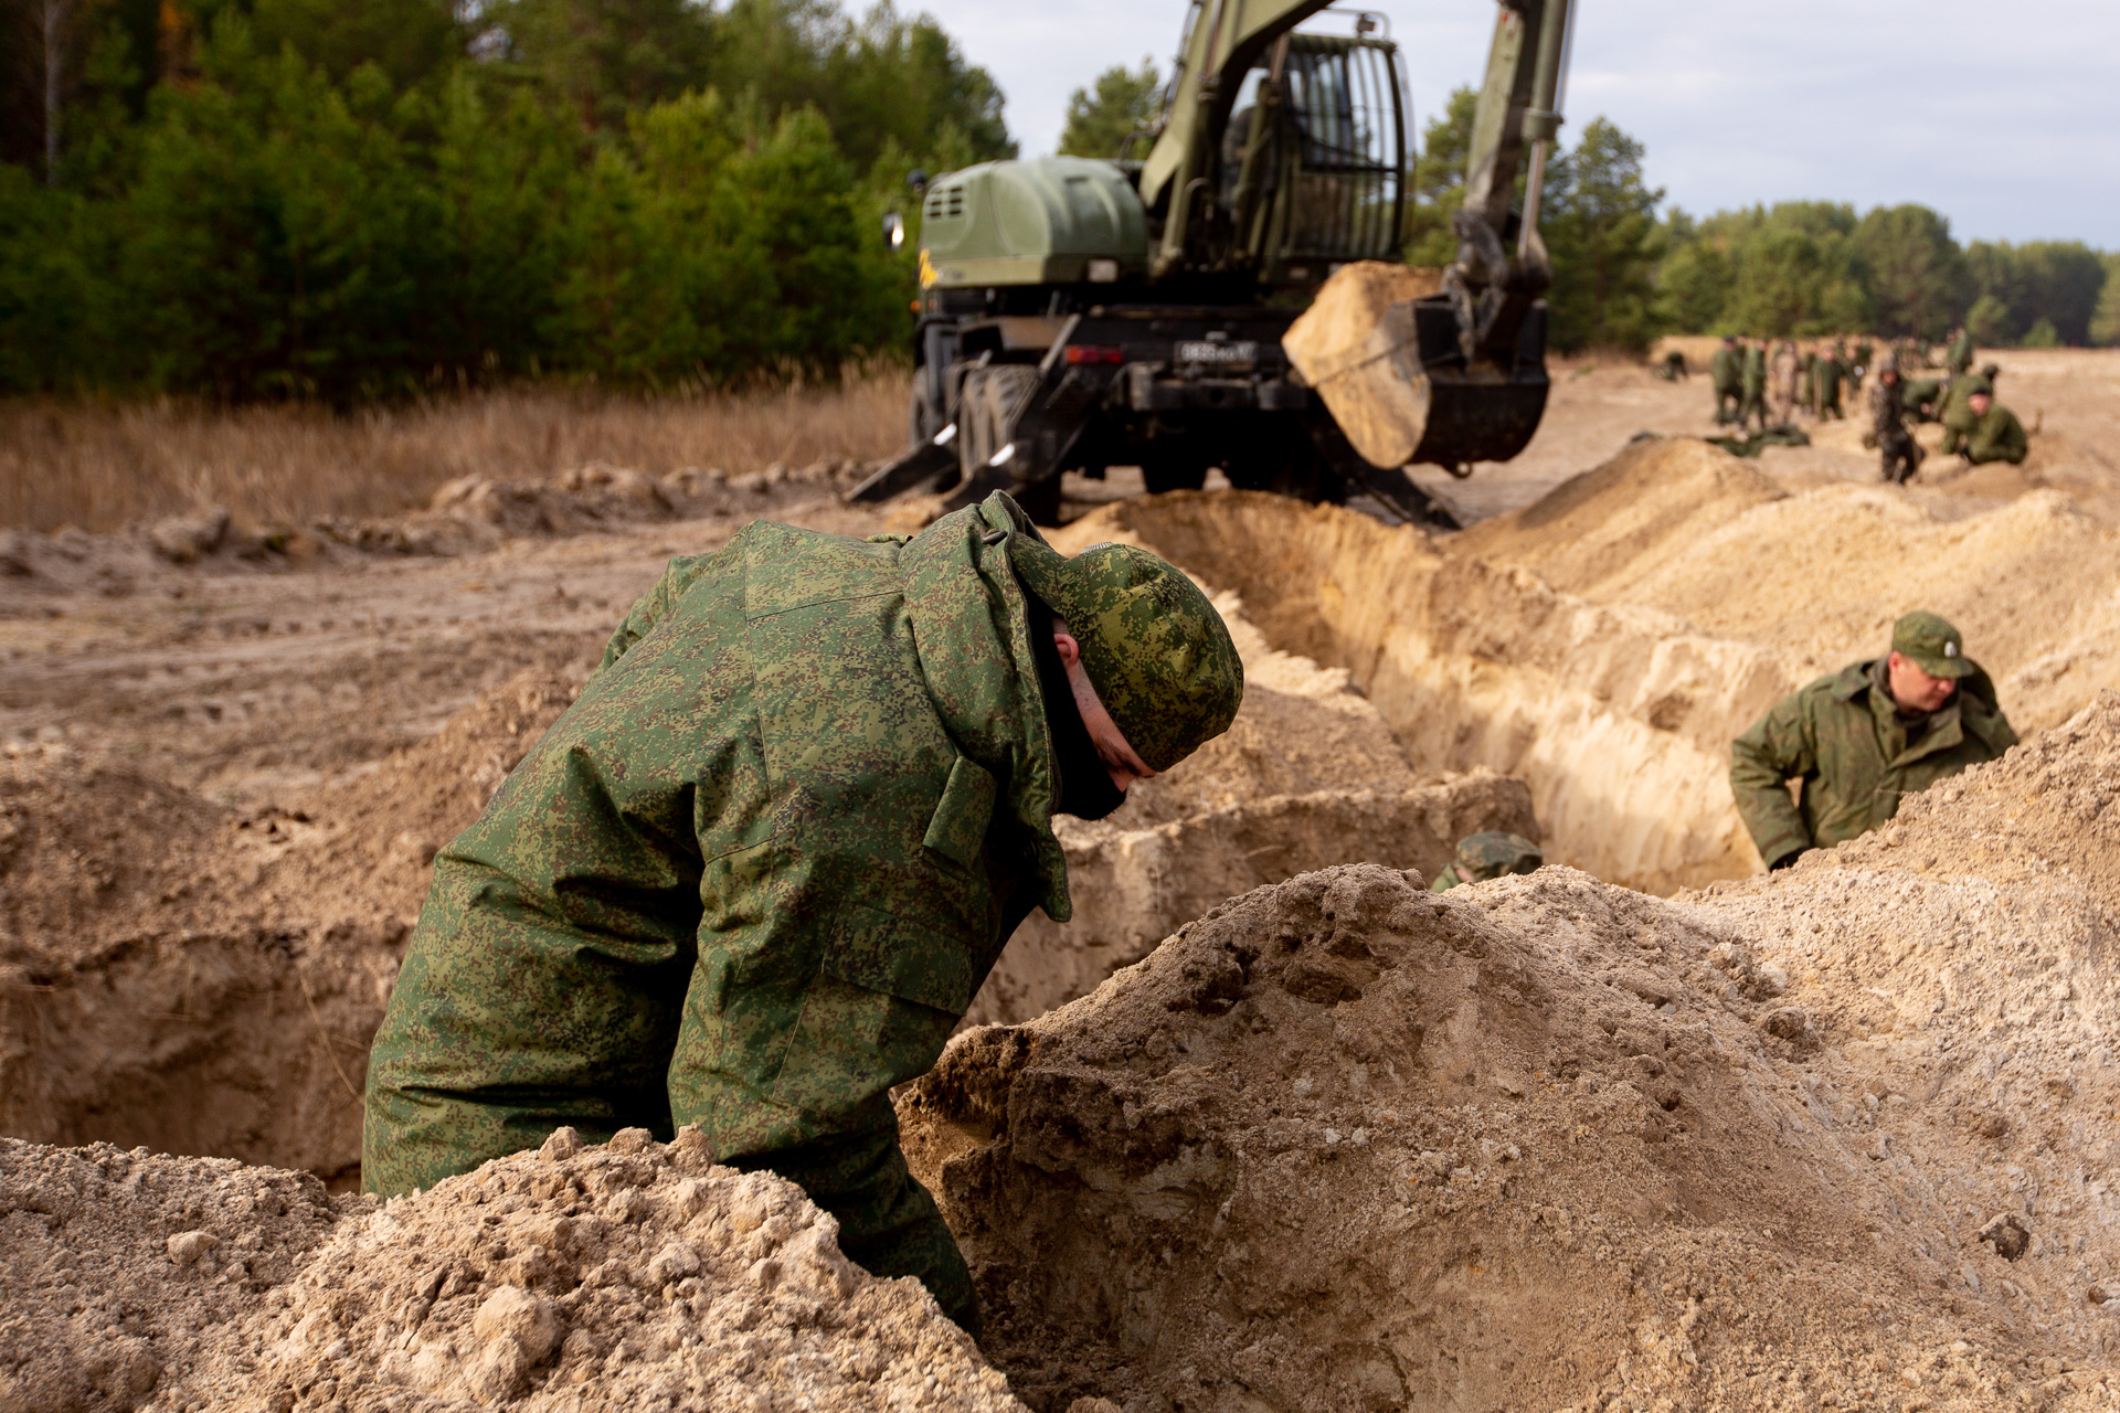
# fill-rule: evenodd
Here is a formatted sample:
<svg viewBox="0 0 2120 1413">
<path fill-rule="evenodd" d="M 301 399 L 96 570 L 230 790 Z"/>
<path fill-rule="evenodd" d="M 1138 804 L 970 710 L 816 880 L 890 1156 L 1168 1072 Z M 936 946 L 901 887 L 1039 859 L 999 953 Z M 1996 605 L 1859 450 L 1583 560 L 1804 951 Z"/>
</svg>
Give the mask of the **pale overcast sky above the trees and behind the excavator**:
<svg viewBox="0 0 2120 1413">
<path fill-rule="evenodd" d="M 1024 155 L 1111 64 L 1168 70 L 1183 0 L 901 0 L 1001 81 Z M 1486 61 L 1490 0 L 1389 0 L 1414 133 Z M 1579 0 L 1569 127 L 1609 117 L 1649 184 L 1753 201 L 1921 201 L 1959 239 L 2120 250 L 2120 0 Z"/>
</svg>

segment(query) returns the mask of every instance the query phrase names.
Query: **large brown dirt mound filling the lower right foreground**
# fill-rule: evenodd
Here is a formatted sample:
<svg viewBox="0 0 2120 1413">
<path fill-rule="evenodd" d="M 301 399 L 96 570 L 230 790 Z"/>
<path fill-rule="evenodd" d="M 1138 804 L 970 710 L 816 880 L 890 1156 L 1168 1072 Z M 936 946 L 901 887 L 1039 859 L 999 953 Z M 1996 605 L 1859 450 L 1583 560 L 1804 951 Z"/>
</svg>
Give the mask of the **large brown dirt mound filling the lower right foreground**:
<svg viewBox="0 0 2120 1413">
<path fill-rule="evenodd" d="M 2103 1407 L 2120 695 L 1664 902 L 1348 866 L 901 1097 L 1035 1409 Z M 2109 1305 L 2107 1305 L 2109 1303 Z"/>
</svg>

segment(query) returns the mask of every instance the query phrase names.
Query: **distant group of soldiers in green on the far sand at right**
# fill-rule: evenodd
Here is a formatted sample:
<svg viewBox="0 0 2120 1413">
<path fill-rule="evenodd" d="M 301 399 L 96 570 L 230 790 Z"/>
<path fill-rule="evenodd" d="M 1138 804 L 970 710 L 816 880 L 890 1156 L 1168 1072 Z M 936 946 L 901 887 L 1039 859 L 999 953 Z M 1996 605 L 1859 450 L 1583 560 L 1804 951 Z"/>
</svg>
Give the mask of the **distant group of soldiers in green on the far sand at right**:
<svg viewBox="0 0 2120 1413">
<path fill-rule="evenodd" d="M 1844 419 L 1847 394 L 1863 396 L 1868 381 L 1870 430 L 1863 434 L 1863 445 L 1878 453 L 1885 481 L 1904 485 L 1921 468 L 1923 449 L 1910 424 L 1942 422 L 1944 453 L 1963 458 L 1967 466 L 2020 464 L 2029 451 L 2025 424 L 1995 400 L 1995 379 L 2001 369 L 1991 362 L 1978 373 L 1972 371 L 1974 341 L 1963 328 L 1953 333 L 1948 345 L 1948 381 L 1908 379 L 1902 371 L 1927 366 L 1927 343 L 1887 345 L 1874 381 L 1870 371 L 1876 345 L 1870 339 L 1857 341 L 1853 352 L 1847 339 L 1836 339 L 1832 350 L 1800 350 L 1794 339 L 1783 339 L 1768 352 L 1768 339 L 1726 335 L 1715 350 L 1709 362 L 1715 426 L 1734 426 L 1738 436 L 1745 436 L 1766 434 L 1770 426 L 1794 428 L 1798 411 L 1817 422 Z M 1675 354 L 1666 356 L 1666 364 L 1671 358 Z M 1683 362 L 1677 366 L 1683 369 Z M 1660 369 L 1660 375 L 1673 377 L 1668 366 Z M 1770 400 L 1772 422 L 1768 422 Z"/>
</svg>

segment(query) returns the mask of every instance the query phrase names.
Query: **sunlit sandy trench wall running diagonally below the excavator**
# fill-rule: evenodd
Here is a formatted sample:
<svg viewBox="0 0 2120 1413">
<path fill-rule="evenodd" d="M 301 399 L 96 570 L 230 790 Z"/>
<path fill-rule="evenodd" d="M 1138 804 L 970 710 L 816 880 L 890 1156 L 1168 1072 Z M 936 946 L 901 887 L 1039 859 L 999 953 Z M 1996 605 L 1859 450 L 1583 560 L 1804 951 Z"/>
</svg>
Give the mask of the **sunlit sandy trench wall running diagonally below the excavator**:
<svg viewBox="0 0 2120 1413">
<path fill-rule="evenodd" d="M 1232 589 L 1287 652 L 1346 667 L 1418 769 L 1520 775 L 1548 860 L 1666 894 L 1760 869 L 1730 737 L 1798 682 L 1757 648 L 1338 506 L 1211 491 L 1121 502 L 1134 538 Z"/>
</svg>

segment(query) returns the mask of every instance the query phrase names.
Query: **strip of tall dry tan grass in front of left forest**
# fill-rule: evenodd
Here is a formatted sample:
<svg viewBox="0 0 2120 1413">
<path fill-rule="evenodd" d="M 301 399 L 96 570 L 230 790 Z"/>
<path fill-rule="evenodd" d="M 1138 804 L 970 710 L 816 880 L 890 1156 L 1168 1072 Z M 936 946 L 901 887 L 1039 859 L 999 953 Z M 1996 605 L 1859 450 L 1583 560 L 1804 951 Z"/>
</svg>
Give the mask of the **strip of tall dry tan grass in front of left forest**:
<svg viewBox="0 0 2120 1413">
<path fill-rule="evenodd" d="M 835 386 L 683 396 L 511 388 L 346 415 L 15 400 L 0 403 L 0 525 L 119 530 L 199 506 L 303 523 L 396 515 L 464 475 L 871 460 L 905 441 L 905 398 L 907 375 L 884 366 Z"/>
</svg>

